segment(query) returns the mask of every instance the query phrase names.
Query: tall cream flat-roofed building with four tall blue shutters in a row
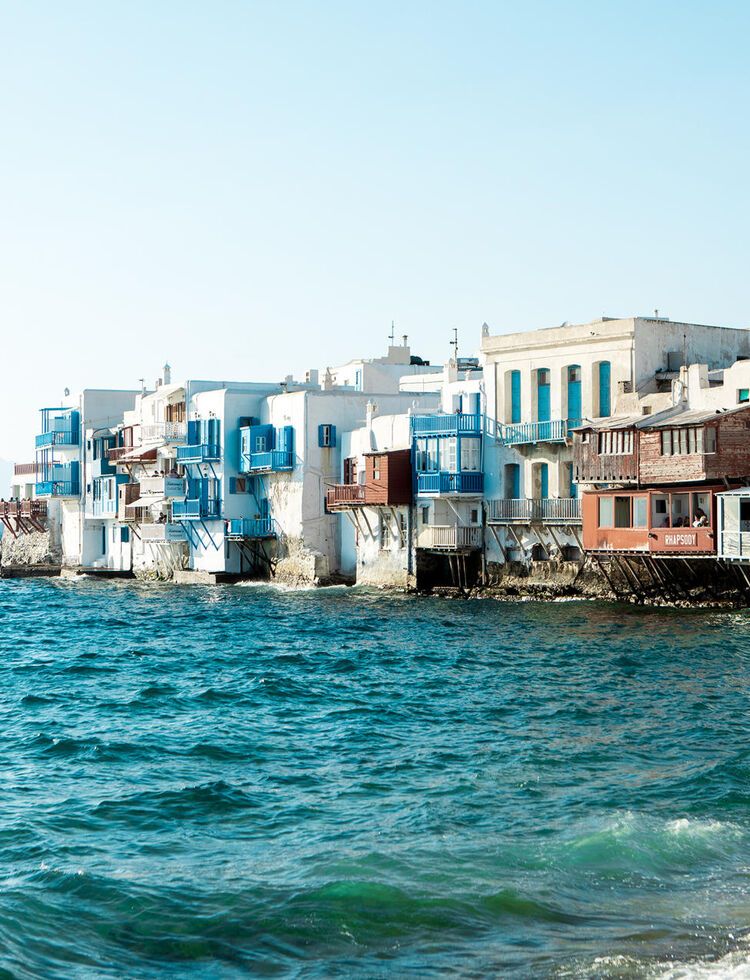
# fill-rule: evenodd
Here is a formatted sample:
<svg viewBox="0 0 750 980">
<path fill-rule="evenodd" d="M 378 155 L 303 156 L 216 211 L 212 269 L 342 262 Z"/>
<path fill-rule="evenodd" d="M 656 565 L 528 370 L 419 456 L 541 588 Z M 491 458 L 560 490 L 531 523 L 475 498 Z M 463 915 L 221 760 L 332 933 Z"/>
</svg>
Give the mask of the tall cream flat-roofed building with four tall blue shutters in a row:
<svg viewBox="0 0 750 980">
<path fill-rule="evenodd" d="M 725 367 L 747 356 L 746 331 L 664 318 L 492 334 L 481 357 L 495 423 L 485 482 L 486 560 L 578 560 L 580 492 L 571 431 L 581 420 L 652 411 L 683 364 Z"/>
</svg>

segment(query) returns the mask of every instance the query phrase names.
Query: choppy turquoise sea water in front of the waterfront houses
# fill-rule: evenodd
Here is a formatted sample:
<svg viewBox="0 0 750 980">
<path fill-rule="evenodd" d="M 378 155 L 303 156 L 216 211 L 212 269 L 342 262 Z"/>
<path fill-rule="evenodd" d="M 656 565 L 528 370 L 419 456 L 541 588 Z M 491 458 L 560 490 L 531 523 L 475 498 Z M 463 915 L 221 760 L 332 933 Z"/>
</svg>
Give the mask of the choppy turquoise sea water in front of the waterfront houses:
<svg viewBox="0 0 750 980">
<path fill-rule="evenodd" d="M 745 976 L 749 641 L 0 582 L 0 976 Z"/>
</svg>

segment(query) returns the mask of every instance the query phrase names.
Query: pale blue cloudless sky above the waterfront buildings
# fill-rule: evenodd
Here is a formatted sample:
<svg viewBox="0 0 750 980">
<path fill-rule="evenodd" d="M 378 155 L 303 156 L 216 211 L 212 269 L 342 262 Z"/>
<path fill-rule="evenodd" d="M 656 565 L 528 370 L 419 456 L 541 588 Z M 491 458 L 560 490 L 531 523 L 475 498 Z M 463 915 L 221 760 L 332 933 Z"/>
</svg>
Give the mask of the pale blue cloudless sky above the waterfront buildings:
<svg viewBox="0 0 750 980">
<path fill-rule="evenodd" d="M 746 326 L 744 2 L 0 0 L 0 458 L 64 388 Z"/>
</svg>

